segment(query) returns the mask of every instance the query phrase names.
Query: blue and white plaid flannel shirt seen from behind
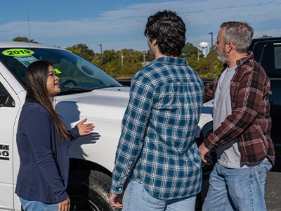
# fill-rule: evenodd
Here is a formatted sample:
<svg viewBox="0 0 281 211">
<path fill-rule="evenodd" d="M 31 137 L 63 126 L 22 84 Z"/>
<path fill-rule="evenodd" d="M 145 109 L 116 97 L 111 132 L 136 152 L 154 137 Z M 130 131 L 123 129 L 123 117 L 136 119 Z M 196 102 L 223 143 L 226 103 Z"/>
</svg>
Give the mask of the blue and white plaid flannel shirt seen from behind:
<svg viewBox="0 0 281 211">
<path fill-rule="evenodd" d="M 185 58 L 157 58 L 136 73 L 117 146 L 112 193 L 122 193 L 128 179 L 163 200 L 200 192 L 195 132 L 203 98 L 202 79 Z"/>
</svg>

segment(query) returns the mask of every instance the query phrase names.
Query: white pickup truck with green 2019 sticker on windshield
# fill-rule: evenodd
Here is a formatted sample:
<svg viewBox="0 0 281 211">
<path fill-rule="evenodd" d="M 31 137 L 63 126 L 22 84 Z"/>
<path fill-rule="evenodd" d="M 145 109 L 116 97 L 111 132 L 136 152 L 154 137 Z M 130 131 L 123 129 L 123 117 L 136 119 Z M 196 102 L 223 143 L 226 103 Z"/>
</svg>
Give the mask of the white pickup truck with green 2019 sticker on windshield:
<svg viewBox="0 0 281 211">
<path fill-rule="evenodd" d="M 61 93 L 54 106 L 67 127 L 85 117 L 96 125 L 70 145 L 71 210 L 112 210 L 107 193 L 129 87 L 70 51 L 24 42 L 0 42 L 0 210 L 21 210 L 15 195 L 15 135 L 25 102 L 25 71 L 34 60 L 50 60 L 59 74 Z M 198 143 L 211 131 L 211 106 L 202 110 Z"/>
</svg>

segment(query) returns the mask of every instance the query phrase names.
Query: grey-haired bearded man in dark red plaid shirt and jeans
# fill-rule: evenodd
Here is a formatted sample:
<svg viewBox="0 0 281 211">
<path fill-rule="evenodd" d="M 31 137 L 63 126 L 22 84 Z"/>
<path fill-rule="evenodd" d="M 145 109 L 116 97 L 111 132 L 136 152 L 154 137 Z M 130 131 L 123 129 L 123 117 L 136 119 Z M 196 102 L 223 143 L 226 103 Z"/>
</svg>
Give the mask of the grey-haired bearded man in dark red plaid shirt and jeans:
<svg viewBox="0 0 281 211">
<path fill-rule="evenodd" d="M 247 23 L 221 24 L 216 41 L 223 72 L 205 87 L 214 98 L 214 132 L 199 150 L 202 162 L 216 151 L 203 210 L 266 210 L 266 173 L 274 165 L 265 70 L 248 51 L 253 29 Z"/>
</svg>

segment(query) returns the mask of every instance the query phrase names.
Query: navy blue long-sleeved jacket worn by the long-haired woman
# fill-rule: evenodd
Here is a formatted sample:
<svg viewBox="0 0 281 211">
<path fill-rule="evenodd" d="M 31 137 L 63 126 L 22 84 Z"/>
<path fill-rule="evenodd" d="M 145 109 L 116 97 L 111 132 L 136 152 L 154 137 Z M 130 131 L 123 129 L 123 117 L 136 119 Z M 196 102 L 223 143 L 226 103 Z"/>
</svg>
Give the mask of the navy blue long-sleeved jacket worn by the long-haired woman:
<svg viewBox="0 0 281 211">
<path fill-rule="evenodd" d="M 70 133 L 79 136 L 74 127 Z M 53 118 L 38 103 L 26 101 L 22 106 L 17 132 L 20 170 L 15 193 L 27 200 L 60 203 L 66 193 L 69 168 L 68 144 L 59 143 Z"/>
</svg>

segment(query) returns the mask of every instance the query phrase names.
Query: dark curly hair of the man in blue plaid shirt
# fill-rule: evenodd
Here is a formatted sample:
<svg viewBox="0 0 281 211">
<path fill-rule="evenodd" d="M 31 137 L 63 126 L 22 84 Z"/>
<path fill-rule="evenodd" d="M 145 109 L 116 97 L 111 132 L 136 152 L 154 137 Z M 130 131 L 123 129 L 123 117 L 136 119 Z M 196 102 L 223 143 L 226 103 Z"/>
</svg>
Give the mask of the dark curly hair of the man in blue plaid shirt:
<svg viewBox="0 0 281 211">
<path fill-rule="evenodd" d="M 159 11 L 148 18 L 145 37 L 156 39 L 159 51 L 166 56 L 181 56 L 185 46 L 185 23 L 173 11 Z"/>
</svg>

